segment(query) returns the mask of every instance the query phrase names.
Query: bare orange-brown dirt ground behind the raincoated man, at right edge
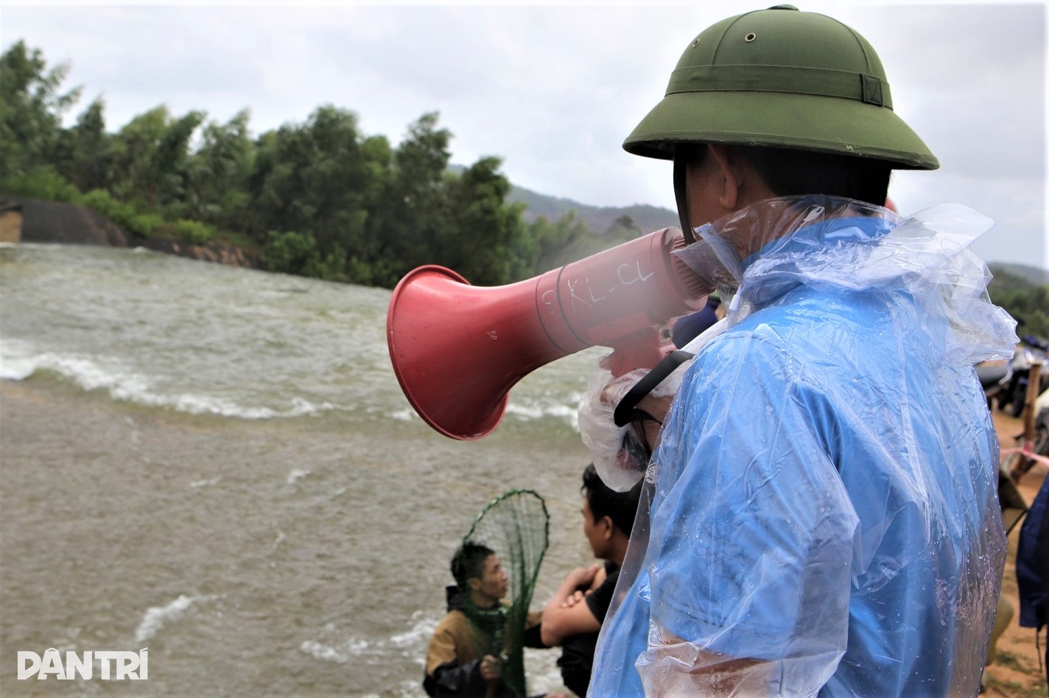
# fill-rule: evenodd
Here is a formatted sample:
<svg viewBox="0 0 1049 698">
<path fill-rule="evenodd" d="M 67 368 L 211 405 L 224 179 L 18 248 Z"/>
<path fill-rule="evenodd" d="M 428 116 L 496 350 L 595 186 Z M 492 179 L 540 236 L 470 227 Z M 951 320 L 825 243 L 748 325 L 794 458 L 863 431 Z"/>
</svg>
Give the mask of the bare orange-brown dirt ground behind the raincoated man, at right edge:
<svg viewBox="0 0 1049 698">
<path fill-rule="evenodd" d="M 1015 437 L 1023 433 L 1023 422 L 997 409 L 992 411 L 992 416 L 1002 449 L 1019 445 Z M 1035 464 L 1021 478 L 1018 488 L 1028 504 L 1034 500 L 1047 472 L 1049 468 L 1045 465 Z M 1002 595 L 1012 606 L 1013 616 L 998 640 L 994 659 L 984 671 L 984 693 L 981 695 L 991 698 L 1030 698 L 1047 695 L 1044 667 L 1046 632 L 1042 632 L 1035 646 L 1034 629 L 1021 628 L 1018 623 L 1020 604 L 1016 601 L 1015 555 L 1021 524 L 1009 533 L 1009 553 L 1002 583 Z"/>
</svg>

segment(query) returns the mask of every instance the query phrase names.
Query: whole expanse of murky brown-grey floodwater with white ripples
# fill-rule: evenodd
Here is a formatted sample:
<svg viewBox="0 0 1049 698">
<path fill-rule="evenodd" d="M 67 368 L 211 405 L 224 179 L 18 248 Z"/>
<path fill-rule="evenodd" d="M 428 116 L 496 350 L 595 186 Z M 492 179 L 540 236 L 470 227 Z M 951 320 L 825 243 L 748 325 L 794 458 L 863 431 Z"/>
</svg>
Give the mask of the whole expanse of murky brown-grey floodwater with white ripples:
<svg viewBox="0 0 1049 698">
<path fill-rule="evenodd" d="M 440 436 L 390 368 L 389 291 L 108 247 L 0 247 L 0 695 L 419 697 L 448 559 L 536 489 L 535 605 L 591 562 L 574 426 L 600 348 L 495 432 Z M 18 651 L 149 648 L 146 681 Z M 530 690 L 560 690 L 530 651 Z"/>
</svg>

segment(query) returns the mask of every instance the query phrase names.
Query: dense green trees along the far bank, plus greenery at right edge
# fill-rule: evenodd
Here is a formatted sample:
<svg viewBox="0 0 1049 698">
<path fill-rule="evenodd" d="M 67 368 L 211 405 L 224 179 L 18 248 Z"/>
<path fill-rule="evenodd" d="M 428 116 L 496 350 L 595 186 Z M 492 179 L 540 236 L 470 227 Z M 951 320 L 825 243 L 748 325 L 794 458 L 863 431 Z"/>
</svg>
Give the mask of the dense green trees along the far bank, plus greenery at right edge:
<svg viewBox="0 0 1049 698">
<path fill-rule="evenodd" d="M 248 109 L 220 124 L 164 106 L 110 132 L 101 99 L 63 126 L 82 92 L 63 86 L 68 67 L 21 41 L 0 56 L 0 194 L 79 203 L 135 236 L 237 244 L 269 270 L 385 287 L 430 263 L 506 284 L 647 232 L 627 215 L 593 230 L 563 199 L 526 216 L 498 157 L 450 167 L 435 112 L 395 146 L 334 105 L 257 136 Z M 989 292 L 1020 334 L 1049 337 L 1049 284 L 996 268 Z"/>
</svg>

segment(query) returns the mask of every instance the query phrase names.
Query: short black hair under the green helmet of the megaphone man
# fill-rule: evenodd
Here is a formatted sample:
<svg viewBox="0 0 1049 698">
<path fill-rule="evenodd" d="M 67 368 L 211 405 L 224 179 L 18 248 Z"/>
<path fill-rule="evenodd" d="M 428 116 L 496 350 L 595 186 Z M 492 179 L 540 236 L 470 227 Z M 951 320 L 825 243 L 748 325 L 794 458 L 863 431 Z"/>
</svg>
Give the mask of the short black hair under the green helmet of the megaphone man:
<svg viewBox="0 0 1049 698">
<path fill-rule="evenodd" d="M 827 194 L 885 205 L 892 163 L 787 148 L 740 149 L 776 196 Z"/>
</svg>

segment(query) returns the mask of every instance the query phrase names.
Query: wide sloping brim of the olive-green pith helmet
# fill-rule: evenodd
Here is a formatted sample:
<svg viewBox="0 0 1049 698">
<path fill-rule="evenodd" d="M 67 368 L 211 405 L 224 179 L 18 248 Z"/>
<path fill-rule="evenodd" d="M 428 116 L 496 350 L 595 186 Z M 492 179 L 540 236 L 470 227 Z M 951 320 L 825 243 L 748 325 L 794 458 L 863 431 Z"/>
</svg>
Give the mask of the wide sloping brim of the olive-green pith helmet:
<svg viewBox="0 0 1049 698">
<path fill-rule="evenodd" d="M 687 129 L 682 125 L 687 124 Z M 830 136 L 833 136 L 830 137 Z M 673 144 L 789 148 L 886 160 L 895 169 L 936 170 L 939 160 L 887 107 L 784 92 L 675 92 L 623 141 L 635 155 L 671 159 Z"/>
</svg>

